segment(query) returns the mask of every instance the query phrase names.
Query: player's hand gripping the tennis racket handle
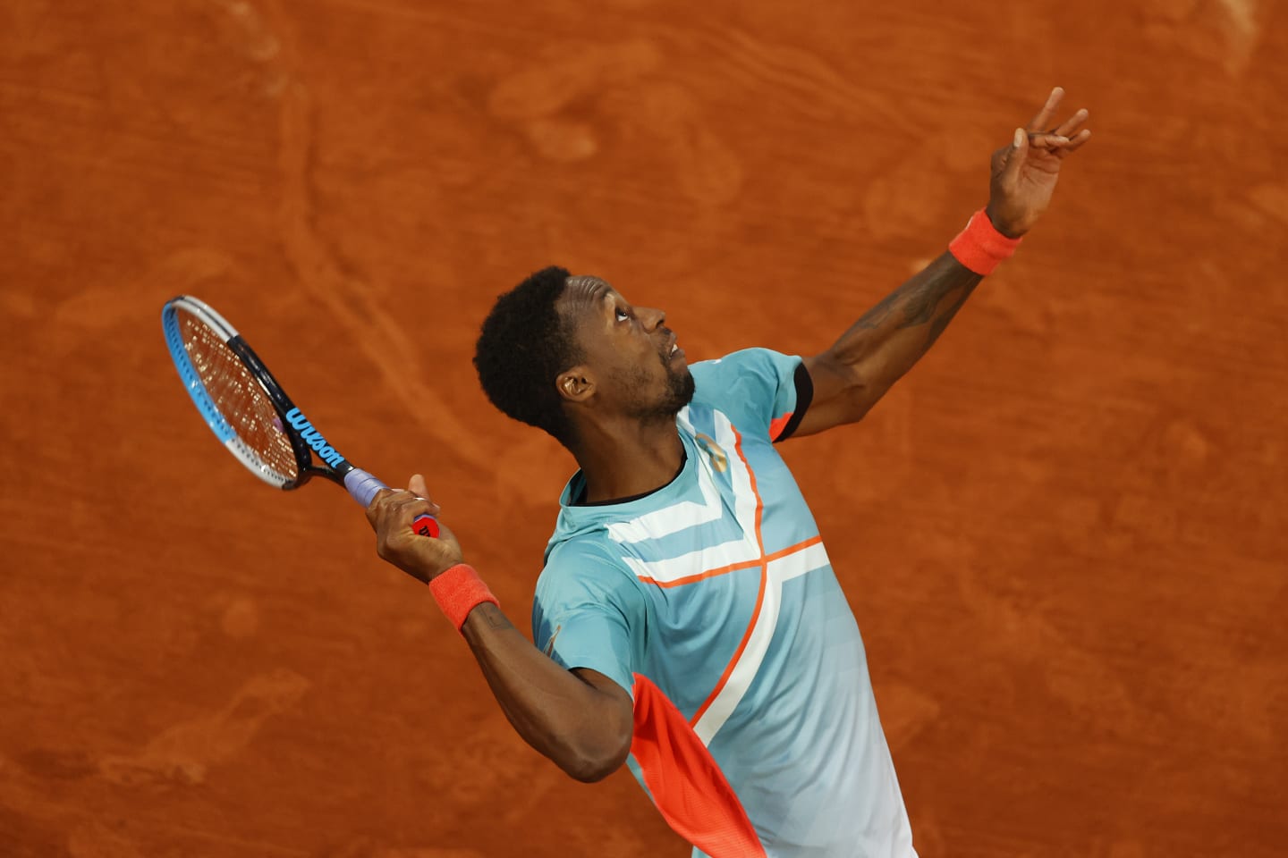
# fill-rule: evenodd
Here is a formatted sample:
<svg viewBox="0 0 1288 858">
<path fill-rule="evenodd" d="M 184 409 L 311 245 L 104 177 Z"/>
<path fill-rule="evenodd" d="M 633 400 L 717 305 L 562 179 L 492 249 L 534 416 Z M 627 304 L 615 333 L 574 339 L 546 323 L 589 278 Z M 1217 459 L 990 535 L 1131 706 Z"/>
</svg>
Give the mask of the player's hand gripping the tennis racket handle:
<svg viewBox="0 0 1288 858">
<path fill-rule="evenodd" d="M 416 475 L 407 489 L 383 489 L 367 507 L 367 521 L 376 531 L 376 553 L 412 578 L 431 581 L 461 562 L 461 544 L 439 522 L 438 538 L 421 536 L 412 522 L 424 515 L 438 516 L 439 507 L 429 499 L 425 477 Z"/>
</svg>

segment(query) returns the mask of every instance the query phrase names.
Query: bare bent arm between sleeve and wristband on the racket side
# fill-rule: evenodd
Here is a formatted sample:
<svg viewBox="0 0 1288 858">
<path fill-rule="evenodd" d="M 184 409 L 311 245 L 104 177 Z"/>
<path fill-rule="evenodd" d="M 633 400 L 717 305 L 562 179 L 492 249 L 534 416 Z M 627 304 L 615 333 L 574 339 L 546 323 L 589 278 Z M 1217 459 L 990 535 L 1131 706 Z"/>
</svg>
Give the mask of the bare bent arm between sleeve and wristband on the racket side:
<svg viewBox="0 0 1288 858">
<path fill-rule="evenodd" d="M 622 764 L 631 724 L 604 705 L 604 692 L 537 650 L 496 605 L 474 608 L 461 633 L 528 745 L 578 781 L 599 780 Z"/>
</svg>

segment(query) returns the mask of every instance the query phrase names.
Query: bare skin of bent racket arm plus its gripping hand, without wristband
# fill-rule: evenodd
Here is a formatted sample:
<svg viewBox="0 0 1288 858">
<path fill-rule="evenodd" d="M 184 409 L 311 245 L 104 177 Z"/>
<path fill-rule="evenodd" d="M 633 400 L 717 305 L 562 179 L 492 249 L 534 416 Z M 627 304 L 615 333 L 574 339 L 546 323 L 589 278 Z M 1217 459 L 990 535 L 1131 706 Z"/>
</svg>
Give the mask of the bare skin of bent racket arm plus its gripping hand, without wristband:
<svg viewBox="0 0 1288 858">
<path fill-rule="evenodd" d="M 385 490 L 367 509 L 380 557 L 422 581 L 461 562 L 461 547 L 439 522 L 438 539 L 412 533 L 422 513 L 437 515 L 425 481 L 412 477 L 408 491 Z M 477 605 L 461 634 L 474 652 L 505 717 L 528 745 L 578 781 L 599 781 L 617 771 L 630 753 L 631 697 L 594 670 L 565 670 L 540 652 L 501 608 Z"/>
</svg>

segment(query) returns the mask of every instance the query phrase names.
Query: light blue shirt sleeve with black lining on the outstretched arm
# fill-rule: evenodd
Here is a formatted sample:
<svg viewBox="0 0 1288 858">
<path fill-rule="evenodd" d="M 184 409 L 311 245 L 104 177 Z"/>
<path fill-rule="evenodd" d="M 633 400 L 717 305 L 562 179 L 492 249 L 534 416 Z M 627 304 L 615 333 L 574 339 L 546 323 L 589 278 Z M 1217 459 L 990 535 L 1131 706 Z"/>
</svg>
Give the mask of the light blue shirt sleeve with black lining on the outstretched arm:
<svg viewBox="0 0 1288 858">
<path fill-rule="evenodd" d="M 697 395 L 739 427 L 755 427 L 770 441 L 791 437 L 814 396 L 800 356 L 744 349 L 693 365 Z"/>
</svg>

